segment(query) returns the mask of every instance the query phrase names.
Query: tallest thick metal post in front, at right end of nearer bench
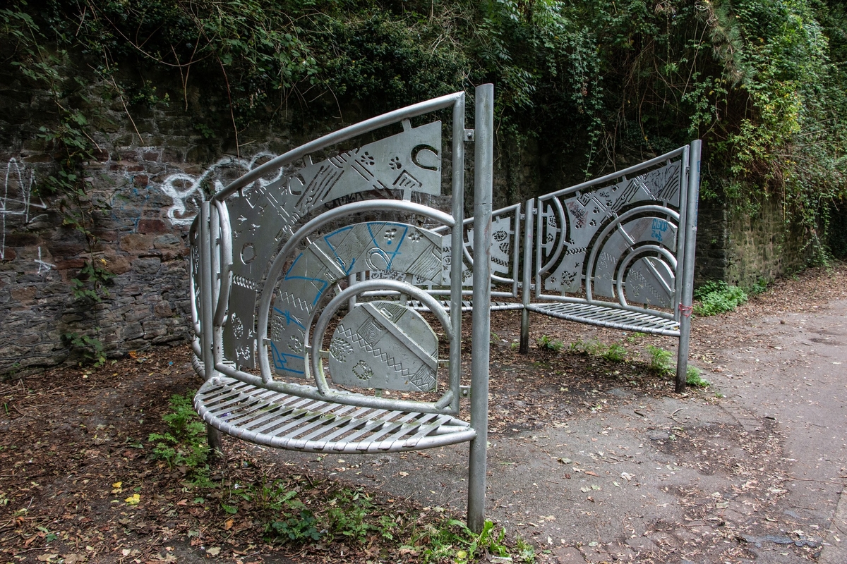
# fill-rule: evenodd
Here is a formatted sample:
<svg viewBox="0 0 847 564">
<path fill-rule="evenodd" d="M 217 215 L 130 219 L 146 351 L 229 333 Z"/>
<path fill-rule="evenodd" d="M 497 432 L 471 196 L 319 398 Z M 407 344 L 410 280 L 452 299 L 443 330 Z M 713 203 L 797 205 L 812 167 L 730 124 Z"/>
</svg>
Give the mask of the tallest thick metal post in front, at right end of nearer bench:
<svg viewBox="0 0 847 564">
<path fill-rule="evenodd" d="M 494 85 L 476 89 L 473 159 L 473 329 L 471 336 L 471 441 L 468 528 L 485 523 L 488 448 L 488 370 L 491 325 L 491 202 L 494 173 Z"/>
</svg>

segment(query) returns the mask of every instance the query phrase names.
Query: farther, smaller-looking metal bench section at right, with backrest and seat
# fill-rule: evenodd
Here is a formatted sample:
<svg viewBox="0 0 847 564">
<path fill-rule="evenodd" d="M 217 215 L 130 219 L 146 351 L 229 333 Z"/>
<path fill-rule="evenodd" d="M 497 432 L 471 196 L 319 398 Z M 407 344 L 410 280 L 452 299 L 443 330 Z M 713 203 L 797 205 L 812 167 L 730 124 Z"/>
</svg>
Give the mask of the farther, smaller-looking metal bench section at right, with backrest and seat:
<svg viewBox="0 0 847 564">
<path fill-rule="evenodd" d="M 699 168 L 695 140 L 634 167 L 492 212 L 491 296 L 500 301 L 490 309 L 523 309 L 521 352 L 529 348 L 531 311 L 677 337 L 676 390 L 684 391 Z M 469 287 L 476 275 L 473 224 L 473 217 L 465 220 L 465 310 L 472 309 Z M 446 293 L 431 283 L 424 286 L 436 297 Z M 441 304 L 450 306 L 443 298 Z"/>
</svg>

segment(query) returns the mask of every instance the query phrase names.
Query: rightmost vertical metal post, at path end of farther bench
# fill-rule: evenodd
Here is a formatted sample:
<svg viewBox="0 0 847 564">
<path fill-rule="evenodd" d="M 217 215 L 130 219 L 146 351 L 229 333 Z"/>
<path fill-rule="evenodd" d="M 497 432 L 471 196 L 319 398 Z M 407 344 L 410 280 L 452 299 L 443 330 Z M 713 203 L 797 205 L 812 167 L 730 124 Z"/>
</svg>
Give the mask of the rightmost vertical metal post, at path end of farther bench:
<svg viewBox="0 0 847 564">
<path fill-rule="evenodd" d="M 688 371 L 691 301 L 694 293 L 694 254 L 697 242 L 697 203 L 700 195 L 700 140 L 691 142 L 689 151 L 688 204 L 685 213 L 685 255 L 683 292 L 679 297 L 679 347 L 677 349 L 676 391 L 684 392 Z"/>
</svg>

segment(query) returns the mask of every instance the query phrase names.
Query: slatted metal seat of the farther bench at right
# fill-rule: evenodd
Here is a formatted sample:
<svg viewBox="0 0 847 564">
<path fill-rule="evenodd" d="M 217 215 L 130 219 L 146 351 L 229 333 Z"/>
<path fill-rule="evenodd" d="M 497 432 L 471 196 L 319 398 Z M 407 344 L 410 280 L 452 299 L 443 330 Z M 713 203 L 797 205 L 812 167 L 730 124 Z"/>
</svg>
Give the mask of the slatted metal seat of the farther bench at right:
<svg viewBox="0 0 847 564">
<path fill-rule="evenodd" d="M 559 319 L 588 323 L 594 326 L 612 327 L 623 331 L 639 331 L 653 335 L 679 337 L 679 321 L 664 317 L 628 311 L 626 309 L 609 308 L 595 304 L 573 304 L 547 302 L 529 304 L 527 309 L 540 314 L 558 317 Z"/>
</svg>

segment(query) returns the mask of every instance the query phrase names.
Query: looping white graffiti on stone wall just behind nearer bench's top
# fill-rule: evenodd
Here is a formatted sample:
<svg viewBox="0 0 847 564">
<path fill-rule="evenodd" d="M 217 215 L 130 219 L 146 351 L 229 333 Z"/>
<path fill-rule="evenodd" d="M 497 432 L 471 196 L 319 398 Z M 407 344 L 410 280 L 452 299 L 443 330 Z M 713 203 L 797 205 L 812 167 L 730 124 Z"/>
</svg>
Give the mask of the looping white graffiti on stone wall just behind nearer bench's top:
<svg viewBox="0 0 847 564">
<path fill-rule="evenodd" d="M 239 159 L 235 157 L 227 157 L 220 159 L 211 167 L 208 167 L 206 172 L 200 176 L 191 176 L 185 172 L 176 172 L 165 178 L 159 185 L 165 194 L 169 195 L 174 200 L 174 205 L 168 208 L 168 219 L 174 225 L 191 225 L 194 217 L 197 215 L 200 203 L 203 200 L 203 184 L 206 183 L 209 189 L 213 192 L 218 192 L 224 188 L 223 175 L 224 172 L 230 172 L 233 169 L 244 172 L 251 171 L 256 167 L 258 161 L 266 161 L 274 158 L 270 153 L 258 153 L 250 159 Z M 282 176 L 282 171 L 276 172 L 274 178 L 259 178 L 257 182 L 265 186 L 269 183 L 278 180 Z"/>
</svg>

